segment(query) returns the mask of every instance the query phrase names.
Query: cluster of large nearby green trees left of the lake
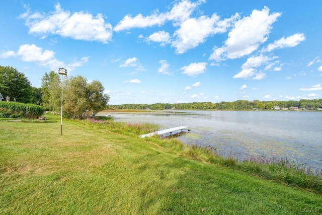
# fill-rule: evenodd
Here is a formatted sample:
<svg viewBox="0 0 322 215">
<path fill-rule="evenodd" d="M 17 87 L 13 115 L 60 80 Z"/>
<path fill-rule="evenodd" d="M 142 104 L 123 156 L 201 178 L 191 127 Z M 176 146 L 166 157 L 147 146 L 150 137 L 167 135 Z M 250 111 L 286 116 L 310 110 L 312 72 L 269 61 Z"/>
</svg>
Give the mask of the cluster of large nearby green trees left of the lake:
<svg viewBox="0 0 322 215">
<path fill-rule="evenodd" d="M 106 109 L 110 96 L 104 94 L 99 81 L 82 76 L 65 77 L 50 71 L 41 79 L 41 88 L 31 86 L 23 73 L 12 66 L 0 66 L 0 93 L 4 98 L 20 103 L 41 105 L 54 113 L 61 112 L 61 85 L 63 85 L 63 114 L 68 118 L 86 118 Z"/>
</svg>

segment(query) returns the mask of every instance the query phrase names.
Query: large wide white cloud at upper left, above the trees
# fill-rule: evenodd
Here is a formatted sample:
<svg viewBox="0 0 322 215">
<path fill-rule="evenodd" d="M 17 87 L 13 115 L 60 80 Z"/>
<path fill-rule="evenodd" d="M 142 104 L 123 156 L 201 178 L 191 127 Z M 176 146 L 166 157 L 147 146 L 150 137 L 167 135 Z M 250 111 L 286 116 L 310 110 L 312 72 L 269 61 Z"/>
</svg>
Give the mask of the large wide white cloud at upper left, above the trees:
<svg viewBox="0 0 322 215">
<path fill-rule="evenodd" d="M 60 35 L 75 40 L 98 41 L 108 43 L 112 38 L 112 25 L 106 23 L 102 14 L 95 17 L 87 12 L 64 11 L 58 3 L 54 12 L 47 14 L 27 12 L 20 16 L 25 19 L 30 34 L 42 38 L 48 35 Z"/>
</svg>

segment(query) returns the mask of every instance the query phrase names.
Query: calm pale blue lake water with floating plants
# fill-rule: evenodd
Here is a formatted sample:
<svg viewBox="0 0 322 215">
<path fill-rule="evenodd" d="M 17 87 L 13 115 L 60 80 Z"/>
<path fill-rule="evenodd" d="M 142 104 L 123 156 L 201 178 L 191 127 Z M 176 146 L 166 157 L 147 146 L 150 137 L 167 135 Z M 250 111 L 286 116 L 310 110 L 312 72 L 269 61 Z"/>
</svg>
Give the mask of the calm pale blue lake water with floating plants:
<svg viewBox="0 0 322 215">
<path fill-rule="evenodd" d="M 161 111 L 111 114 L 115 120 L 157 123 L 163 128 L 190 126 L 178 137 L 185 144 L 212 146 L 223 156 L 287 158 L 322 168 L 322 112 Z"/>
</svg>

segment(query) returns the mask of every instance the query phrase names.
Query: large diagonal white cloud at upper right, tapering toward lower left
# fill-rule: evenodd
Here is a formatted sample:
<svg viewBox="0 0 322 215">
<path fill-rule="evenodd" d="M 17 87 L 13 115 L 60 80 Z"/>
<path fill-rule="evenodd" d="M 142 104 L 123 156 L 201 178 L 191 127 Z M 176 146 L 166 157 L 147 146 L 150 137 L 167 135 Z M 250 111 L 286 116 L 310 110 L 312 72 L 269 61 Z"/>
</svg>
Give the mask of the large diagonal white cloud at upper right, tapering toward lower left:
<svg viewBox="0 0 322 215">
<path fill-rule="evenodd" d="M 262 11 L 253 10 L 249 17 L 235 22 L 233 29 L 228 33 L 225 45 L 220 48 L 214 47 L 209 59 L 220 61 L 251 54 L 267 40 L 272 24 L 280 16 L 280 13 L 269 14 L 268 7 L 264 7 Z"/>
</svg>

